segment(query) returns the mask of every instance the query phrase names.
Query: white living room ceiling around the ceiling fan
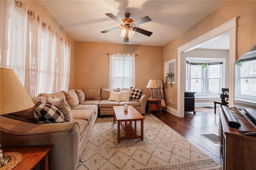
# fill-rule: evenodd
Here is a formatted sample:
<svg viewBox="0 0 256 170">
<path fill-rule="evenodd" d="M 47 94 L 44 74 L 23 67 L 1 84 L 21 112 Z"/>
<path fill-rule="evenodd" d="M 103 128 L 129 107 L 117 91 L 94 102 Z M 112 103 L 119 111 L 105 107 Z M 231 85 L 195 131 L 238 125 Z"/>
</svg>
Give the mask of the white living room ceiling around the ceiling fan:
<svg viewBox="0 0 256 170">
<path fill-rule="evenodd" d="M 149 16 L 152 21 L 136 25 L 153 32 L 148 37 L 138 32 L 128 43 L 164 46 L 227 0 L 38 0 L 60 26 L 75 40 L 83 42 L 123 43 L 120 30 L 101 31 L 120 26 L 106 13 L 122 19 L 125 12 L 138 20 Z M 219 44 L 219 43 L 217 43 Z"/>
</svg>

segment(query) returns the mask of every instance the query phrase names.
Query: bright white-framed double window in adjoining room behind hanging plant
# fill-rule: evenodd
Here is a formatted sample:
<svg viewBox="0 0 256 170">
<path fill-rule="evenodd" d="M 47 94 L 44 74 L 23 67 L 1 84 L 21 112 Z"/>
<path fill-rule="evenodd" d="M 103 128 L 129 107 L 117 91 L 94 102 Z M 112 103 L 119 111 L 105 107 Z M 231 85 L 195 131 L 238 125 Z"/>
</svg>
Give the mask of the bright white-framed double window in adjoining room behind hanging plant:
<svg viewBox="0 0 256 170">
<path fill-rule="evenodd" d="M 222 87 L 222 62 L 207 63 L 202 69 L 200 64 L 187 61 L 186 64 L 186 91 L 196 93 L 220 93 Z"/>
</svg>

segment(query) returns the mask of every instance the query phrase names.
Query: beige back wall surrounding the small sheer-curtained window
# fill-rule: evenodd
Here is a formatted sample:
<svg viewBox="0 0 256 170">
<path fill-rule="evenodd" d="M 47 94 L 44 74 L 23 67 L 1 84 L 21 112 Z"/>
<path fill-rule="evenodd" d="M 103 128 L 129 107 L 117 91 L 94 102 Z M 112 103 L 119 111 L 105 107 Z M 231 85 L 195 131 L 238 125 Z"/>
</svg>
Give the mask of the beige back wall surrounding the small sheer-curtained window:
<svg viewBox="0 0 256 170">
<path fill-rule="evenodd" d="M 107 53 L 135 53 L 136 87 L 150 95 L 149 79 L 163 77 L 163 47 L 114 43 L 75 42 L 75 87 L 108 88 Z"/>
</svg>

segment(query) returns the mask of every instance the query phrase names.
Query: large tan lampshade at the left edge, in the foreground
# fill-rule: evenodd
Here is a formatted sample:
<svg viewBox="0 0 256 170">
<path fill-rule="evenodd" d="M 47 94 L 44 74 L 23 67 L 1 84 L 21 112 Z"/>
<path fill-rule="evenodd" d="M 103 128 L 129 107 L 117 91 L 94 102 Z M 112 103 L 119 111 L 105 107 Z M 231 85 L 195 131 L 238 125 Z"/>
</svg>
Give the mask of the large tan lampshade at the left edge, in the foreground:
<svg viewBox="0 0 256 170">
<path fill-rule="evenodd" d="M 34 106 L 13 69 L 0 68 L 0 115 Z"/>
</svg>

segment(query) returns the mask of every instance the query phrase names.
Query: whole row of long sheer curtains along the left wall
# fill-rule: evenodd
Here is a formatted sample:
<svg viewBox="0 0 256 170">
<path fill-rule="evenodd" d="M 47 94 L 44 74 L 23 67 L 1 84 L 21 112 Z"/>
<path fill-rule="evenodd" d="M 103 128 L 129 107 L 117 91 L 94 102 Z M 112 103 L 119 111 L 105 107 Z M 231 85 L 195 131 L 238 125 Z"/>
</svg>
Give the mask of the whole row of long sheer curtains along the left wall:
<svg viewBox="0 0 256 170">
<path fill-rule="evenodd" d="M 1 67 L 13 68 L 28 94 L 68 90 L 71 46 L 26 4 L 0 1 Z"/>
</svg>

